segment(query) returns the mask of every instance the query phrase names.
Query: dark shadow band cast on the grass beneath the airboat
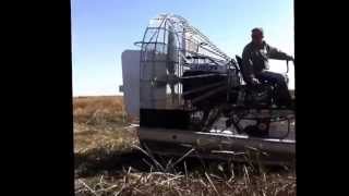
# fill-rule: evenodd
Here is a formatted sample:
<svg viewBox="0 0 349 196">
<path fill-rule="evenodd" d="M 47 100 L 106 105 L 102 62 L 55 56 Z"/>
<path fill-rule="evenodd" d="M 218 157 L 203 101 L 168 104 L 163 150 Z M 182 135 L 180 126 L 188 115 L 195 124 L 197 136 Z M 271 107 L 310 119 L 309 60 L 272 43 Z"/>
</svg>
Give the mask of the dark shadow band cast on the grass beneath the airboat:
<svg viewBox="0 0 349 196">
<path fill-rule="evenodd" d="M 155 156 L 155 159 L 164 167 L 169 162 L 173 162 L 179 157 Z M 137 149 L 129 151 L 107 151 L 106 149 L 93 149 L 83 154 L 75 154 L 75 177 L 96 176 L 97 174 L 108 173 L 118 174 L 121 171 L 132 168 L 134 171 L 149 172 L 156 171 L 156 166 L 153 160 Z M 249 166 L 246 163 L 229 162 L 214 159 L 201 159 L 195 157 L 186 157 L 176 167 L 170 168 L 166 172 L 170 173 L 195 173 L 203 175 L 209 171 L 222 177 L 230 177 L 233 170 L 234 175 L 242 176 L 243 168 L 248 167 L 254 174 L 261 173 L 257 166 Z M 291 169 L 292 170 L 292 169 Z M 163 171 L 164 172 L 164 171 Z M 288 173 L 290 170 L 282 167 L 266 167 L 263 168 L 266 173 Z"/>
</svg>

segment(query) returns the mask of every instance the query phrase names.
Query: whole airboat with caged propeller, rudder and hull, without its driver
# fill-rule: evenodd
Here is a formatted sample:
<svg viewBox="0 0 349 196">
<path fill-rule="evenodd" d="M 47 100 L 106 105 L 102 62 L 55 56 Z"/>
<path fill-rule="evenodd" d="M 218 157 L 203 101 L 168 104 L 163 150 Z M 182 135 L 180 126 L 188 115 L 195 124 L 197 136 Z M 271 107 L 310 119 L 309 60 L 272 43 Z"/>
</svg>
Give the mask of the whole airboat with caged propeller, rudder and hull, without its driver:
<svg viewBox="0 0 349 196">
<path fill-rule="evenodd" d="M 294 161 L 294 110 L 275 107 L 272 85 L 251 88 L 239 56 L 229 57 L 174 14 L 151 20 L 134 45 L 141 49 L 122 53 L 123 93 L 144 148 L 166 156 Z"/>
</svg>

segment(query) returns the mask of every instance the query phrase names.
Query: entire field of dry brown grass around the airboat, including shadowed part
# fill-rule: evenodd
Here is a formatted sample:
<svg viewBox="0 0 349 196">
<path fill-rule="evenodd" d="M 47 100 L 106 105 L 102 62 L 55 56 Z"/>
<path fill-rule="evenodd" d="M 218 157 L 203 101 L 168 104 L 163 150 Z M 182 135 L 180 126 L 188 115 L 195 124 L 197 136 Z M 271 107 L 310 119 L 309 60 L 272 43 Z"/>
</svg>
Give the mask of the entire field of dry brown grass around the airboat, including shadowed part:
<svg viewBox="0 0 349 196">
<path fill-rule="evenodd" d="M 75 195 L 296 195 L 293 170 L 185 159 L 173 167 L 139 149 L 122 97 L 73 100 Z M 174 160 L 172 160 L 174 161 Z"/>
</svg>

